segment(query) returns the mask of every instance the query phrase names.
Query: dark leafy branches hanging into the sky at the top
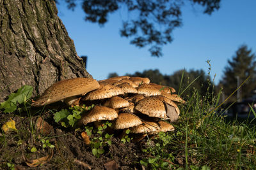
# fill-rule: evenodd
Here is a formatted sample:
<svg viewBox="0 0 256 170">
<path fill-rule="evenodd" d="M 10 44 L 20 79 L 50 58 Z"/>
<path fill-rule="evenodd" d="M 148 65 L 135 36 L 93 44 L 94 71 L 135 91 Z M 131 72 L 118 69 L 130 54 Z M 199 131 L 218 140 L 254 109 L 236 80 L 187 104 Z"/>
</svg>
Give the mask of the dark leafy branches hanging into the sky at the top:
<svg viewBox="0 0 256 170">
<path fill-rule="evenodd" d="M 57 1 L 57 0 L 56 0 Z M 76 0 L 65 0 L 68 8 L 74 10 Z M 211 15 L 220 8 L 221 0 L 189 0 L 191 4 L 204 7 L 204 13 Z M 79 2 L 80 3 L 80 2 Z M 189 3 L 186 1 L 186 3 Z M 166 43 L 172 42 L 172 31 L 182 25 L 180 7 L 182 0 L 83 0 L 85 20 L 104 25 L 108 16 L 118 9 L 126 9 L 128 20 L 123 21 L 120 34 L 131 39 L 131 44 L 139 48 L 150 46 L 152 56 L 162 55 L 161 48 Z"/>
</svg>

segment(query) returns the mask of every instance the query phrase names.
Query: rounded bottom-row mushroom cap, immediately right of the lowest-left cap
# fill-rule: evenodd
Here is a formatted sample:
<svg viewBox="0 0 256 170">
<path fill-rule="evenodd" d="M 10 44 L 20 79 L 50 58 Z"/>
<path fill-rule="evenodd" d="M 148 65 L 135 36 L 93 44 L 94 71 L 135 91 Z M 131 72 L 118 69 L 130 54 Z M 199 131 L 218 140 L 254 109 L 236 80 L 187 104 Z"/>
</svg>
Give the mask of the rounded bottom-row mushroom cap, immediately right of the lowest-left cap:
<svg viewBox="0 0 256 170">
<path fill-rule="evenodd" d="M 131 113 L 120 113 L 115 120 L 115 129 L 127 129 L 142 124 L 142 121 L 136 115 Z"/>
</svg>

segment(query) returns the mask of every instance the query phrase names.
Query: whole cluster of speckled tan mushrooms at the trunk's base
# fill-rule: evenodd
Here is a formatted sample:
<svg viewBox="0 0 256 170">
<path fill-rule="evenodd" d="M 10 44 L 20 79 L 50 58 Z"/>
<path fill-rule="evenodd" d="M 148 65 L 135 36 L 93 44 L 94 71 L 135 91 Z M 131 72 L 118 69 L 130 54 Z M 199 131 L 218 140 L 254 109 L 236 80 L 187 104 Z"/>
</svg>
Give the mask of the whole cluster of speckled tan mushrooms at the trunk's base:
<svg viewBox="0 0 256 170">
<path fill-rule="evenodd" d="M 116 130 L 131 129 L 132 134 L 157 134 L 173 131 L 168 122 L 179 118 L 177 104 L 185 101 L 173 94 L 175 89 L 150 83 L 148 78 L 117 76 L 96 81 L 72 78 L 55 83 L 32 106 L 64 100 L 69 106 L 95 104 L 79 124 L 113 121 Z"/>
</svg>

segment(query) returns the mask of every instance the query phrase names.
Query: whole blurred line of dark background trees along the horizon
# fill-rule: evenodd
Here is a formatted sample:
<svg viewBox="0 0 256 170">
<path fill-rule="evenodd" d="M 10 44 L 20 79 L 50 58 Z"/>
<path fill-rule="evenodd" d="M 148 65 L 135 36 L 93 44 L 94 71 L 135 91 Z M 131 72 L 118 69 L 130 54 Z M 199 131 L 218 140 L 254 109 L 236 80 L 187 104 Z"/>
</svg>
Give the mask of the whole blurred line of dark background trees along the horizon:
<svg viewBox="0 0 256 170">
<path fill-rule="evenodd" d="M 153 83 L 173 87 L 177 92 L 179 89 L 182 92 L 182 90 L 188 87 L 183 94 L 184 97 L 189 96 L 193 90 L 197 90 L 200 95 L 205 96 L 207 91 L 216 93 L 223 89 L 223 98 L 232 94 L 237 89 L 237 85 L 241 85 L 250 76 L 240 89 L 241 99 L 248 99 L 253 97 L 253 90 L 256 89 L 255 57 L 255 53 L 252 53 L 252 49 L 249 49 L 248 46 L 239 46 L 232 59 L 228 59 L 227 66 L 223 71 L 223 77 L 217 85 L 214 84 L 211 76 L 202 69 L 190 69 L 189 71 L 180 69 L 172 74 L 162 74 L 158 69 L 148 69 L 142 73 L 136 71 L 133 74 L 127 75 L 150 78 Z M 109 73 L 109 78 L 113 76 L 118 76 L 118 74 Z M 181 80 L 182 82 L 180 83 Z M 237 81 L 239 81 L 239 84 L 237 84 Z M 191 85 L 189 86 L 190 83 Z M 228 101 L 237 101 L 237 92 Z"/>
</svg>

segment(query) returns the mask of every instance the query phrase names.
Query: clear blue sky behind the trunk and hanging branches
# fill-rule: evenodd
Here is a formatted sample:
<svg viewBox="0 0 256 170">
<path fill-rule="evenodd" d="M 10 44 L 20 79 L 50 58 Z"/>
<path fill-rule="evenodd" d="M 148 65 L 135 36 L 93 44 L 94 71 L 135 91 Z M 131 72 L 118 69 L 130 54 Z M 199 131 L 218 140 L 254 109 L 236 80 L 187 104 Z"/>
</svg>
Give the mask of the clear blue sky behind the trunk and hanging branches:
<svg viewBox="0 0 256 170">
<path fill-rule="evenodd" d="M 68 10 L 65 3 L 57 5 L 58 16 L 74 40 L 77 54 L 88 56 L 87 71 L 97 80 L 113 72 L 122 76 L 145 69 L 159 69 L 162 74 L 184 68 L 204 69 L 207 73 L 206 60 L 211 60 L 215 83 L 240 45 L 248 45 L 256 53 L 255 7 L 255 0 L 222 0 L 220 10 L 206 15 L 203 8 L 186 4 L 182 7 L 182 27 L 173 31 L 172 43 L 163 46 L 163 57 L 156 58 L 150 57 L 147 47 L 137 48 L 129 39 L 120 37 L 124 10 L 110 15 L 109 22 L 99 27 L 84 21 L 81 5 L 74 11 Z"/>
</svg>

